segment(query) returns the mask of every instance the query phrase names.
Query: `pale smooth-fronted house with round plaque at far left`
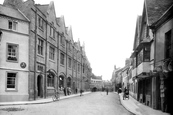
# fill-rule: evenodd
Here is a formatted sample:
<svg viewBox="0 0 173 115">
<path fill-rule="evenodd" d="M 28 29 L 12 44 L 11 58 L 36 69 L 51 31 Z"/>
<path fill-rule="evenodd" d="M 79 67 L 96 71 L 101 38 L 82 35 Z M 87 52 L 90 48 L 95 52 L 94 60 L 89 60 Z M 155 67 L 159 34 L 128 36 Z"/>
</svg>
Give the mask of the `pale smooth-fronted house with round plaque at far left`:
<svg viewBox="0 0 173 115">
<path fill-rule="evenodd" d="M 0 102 L 28 100 L 29 19 L 0 5 Z"/>
</svg>

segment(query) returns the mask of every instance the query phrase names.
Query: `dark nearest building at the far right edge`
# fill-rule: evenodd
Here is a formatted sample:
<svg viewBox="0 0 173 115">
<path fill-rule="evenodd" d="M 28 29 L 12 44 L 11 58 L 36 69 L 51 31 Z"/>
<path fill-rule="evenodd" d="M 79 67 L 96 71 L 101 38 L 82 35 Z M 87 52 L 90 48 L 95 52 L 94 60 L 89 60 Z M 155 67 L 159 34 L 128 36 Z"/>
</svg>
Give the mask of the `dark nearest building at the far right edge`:
<svg viewBox="0 0 173 115">
<path fill-rule="evenodd" d="M 162 3 L 162 1 L 159 1 Z M 158 5 L 158 4 L 157 4 Z M 149 6 L 149 13 L 154 11 Z M 161 14 L 156 12 L 150 22 L 151 29 L 155 37 L 155 55 L 153 75 L 153 100 L 152 105 L 155 109 L 161 109 L 164 112 L 172 111 L 172 61 L 173 61 L 173 1 L 165 0 L 162 7 L 158 5 Z M 157 17 L 160 17 L 159 19 Z"/>
</svg>

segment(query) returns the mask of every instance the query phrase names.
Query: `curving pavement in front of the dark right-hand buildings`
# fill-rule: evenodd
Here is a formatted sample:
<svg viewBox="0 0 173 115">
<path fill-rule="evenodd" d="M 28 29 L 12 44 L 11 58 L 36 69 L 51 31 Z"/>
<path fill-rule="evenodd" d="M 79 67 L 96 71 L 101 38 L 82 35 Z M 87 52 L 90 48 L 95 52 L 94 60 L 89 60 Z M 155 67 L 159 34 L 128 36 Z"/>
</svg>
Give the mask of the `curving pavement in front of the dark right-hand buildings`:
<svg viewBox="0 0 173 115">
<path fill-rule="evenodd" d="M 119 94 L 121 104 L 130 112 L 135 115 L 170 115 L 169 113 L 162 112 L 161 110 L 155 110 L 149 106 L 146 106 L 138 102 L 133 97 L 129 96 L 129 99 L 123 100 L 123 93 Z"/>
</svg>

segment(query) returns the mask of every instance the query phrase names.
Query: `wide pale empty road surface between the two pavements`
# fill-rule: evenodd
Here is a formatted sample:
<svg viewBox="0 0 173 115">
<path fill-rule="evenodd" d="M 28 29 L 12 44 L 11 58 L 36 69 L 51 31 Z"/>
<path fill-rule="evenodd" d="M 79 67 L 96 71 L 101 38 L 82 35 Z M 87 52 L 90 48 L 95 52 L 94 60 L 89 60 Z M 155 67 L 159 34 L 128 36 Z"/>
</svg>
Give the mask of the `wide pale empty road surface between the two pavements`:
<svg viewBox="0 0 173 115">
<path fill-rule="evenodd" d="M 16 108 L 16 111 L 4 109 Z M 0 115 L 133 115 L 116 93 L 93 92 L 47 104 L 0 106 Z"/>
</svg>

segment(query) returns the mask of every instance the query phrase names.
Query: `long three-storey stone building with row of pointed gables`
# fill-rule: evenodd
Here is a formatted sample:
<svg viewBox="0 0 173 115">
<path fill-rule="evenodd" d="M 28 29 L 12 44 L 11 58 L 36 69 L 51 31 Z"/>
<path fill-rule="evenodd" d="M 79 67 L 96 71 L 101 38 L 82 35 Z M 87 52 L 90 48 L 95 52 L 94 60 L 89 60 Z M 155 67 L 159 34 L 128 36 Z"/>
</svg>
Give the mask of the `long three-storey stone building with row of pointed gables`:
<svg viewBox="0 0 173 115">
<path fill-rule="evenodd" d="M 72 28 L 66 27 L 64 17 L 56 17 L 54 2 L 5 0 L 3 5 L 19 9 L 30 20 L 28 100 L 47 98 L 61 87 L 70 87 L 73 93 L 86 90 L 91 67 L 85 49 L 73 41 Z"/>
</svg>

